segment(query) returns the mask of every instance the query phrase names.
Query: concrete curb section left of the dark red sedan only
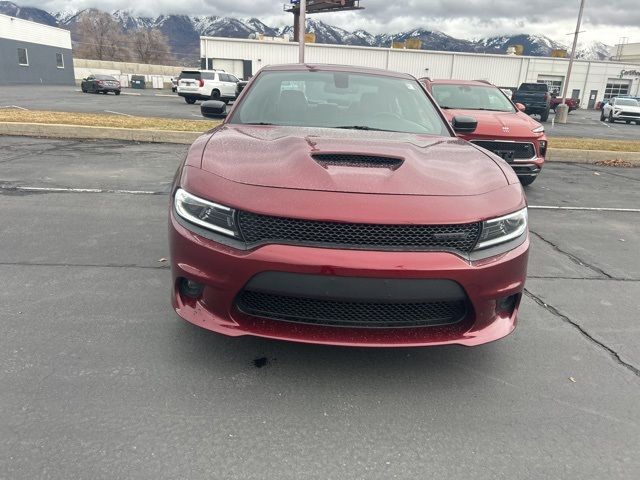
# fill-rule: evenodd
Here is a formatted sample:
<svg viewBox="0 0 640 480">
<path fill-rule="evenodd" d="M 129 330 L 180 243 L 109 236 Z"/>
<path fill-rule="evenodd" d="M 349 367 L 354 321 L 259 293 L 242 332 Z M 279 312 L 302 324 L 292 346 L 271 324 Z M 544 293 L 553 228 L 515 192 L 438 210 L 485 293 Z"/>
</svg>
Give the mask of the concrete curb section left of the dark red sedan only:
<svg viewBox="0 0 640 480">
<path fill-rule="evenodd" d="M 190 145 L 202 133 L 173 130 L 139 130 L 135 128 L 87 127 L 44 123 L 0 122 L 0 135 L 93 140 L 125 140 L 129 142 L 178 143 Z"/>
</svg>

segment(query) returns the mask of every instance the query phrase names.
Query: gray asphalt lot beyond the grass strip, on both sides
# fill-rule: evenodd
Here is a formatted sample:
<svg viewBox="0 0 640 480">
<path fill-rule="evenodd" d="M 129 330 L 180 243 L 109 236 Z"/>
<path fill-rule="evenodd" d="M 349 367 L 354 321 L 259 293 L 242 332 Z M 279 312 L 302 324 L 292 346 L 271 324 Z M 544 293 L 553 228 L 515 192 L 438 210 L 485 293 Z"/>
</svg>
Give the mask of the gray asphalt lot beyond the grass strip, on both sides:
<svg viewBox="0 0 640 480">
<path fill-rule="evenodd" d="M 83 94 L 80 88 L 65 86 L 0 86 L 0 108 L 17 106 L 29 110 L 53 110 L 83 113 L 120 114 L 163 118 L 202 120 L 200 102 L 187 105 L 169 90 L 124 89 L 119 97 Z M 534 116 L 539 120 L 538 116 Z M 640 125 L 600 121 L 599 111 L 577 110 L 565 125 L 555 123 L 551 114 L 545 124 L 547 134 L 563 137 L 638 140 Z"/>
</svg>

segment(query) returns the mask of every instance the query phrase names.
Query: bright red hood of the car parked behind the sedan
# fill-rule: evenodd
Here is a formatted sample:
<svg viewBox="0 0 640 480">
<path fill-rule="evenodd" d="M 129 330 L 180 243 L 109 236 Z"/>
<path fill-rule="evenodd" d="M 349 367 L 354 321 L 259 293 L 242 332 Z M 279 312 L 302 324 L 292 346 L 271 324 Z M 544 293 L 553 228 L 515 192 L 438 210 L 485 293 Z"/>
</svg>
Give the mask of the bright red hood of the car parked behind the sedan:
<svg viewBox="0 0 640 480">
<path fill-rule="evenodd" d="M 539 135 L 533 133 L 540 124 L 526 113 L 522 112 L 488 112 L 484 110 L 445 110 L 447 120 L 451 121 L 457 115 L 466 115 L 478 121 L 478 128 L 473 134 L 464 138 L 537 138 Z"/>
</svg>

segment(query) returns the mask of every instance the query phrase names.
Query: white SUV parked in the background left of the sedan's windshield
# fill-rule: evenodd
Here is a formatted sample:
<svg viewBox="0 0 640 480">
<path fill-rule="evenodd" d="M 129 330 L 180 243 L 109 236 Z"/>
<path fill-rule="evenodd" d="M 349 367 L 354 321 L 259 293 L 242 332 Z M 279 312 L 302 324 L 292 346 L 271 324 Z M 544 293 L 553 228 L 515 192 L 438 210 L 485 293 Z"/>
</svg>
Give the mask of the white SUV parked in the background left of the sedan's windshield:
<svg viewBox="0 0 640 480">
<path fill-rule="evenodd" d="M 196 100 L 222 100 L 236 98 L 239 80 L 224 70 L 183 70 L 178 77 L 178 95 L 188 104 Z"/>
</svg>

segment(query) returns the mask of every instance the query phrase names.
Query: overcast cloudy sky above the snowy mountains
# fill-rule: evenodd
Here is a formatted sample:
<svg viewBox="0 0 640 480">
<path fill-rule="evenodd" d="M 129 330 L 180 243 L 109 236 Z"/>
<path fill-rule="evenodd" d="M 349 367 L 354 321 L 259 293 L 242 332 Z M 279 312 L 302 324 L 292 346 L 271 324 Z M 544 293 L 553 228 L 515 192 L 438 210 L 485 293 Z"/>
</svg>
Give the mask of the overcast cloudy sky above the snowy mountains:
<svg viewBox="0 0 640 480">
<path fill-rule="evenodd" d="M 48 11 L 96 7 L 134 9 L 136 14 L 257 17 L 272 26 L 291 22 L 282 12 L 285 0 L 14 0 Z M 135 4 L 135 7 L 132 7 Z M 394 33 L 424 27 L 458 38 L 511 33 L 543 34 L 568 43 L 575 30 L 580 0 L 360 0 L 365 10 L 318 14 L 315 18 L 347 30 Z M 621 37 L 640 42 L 640 0 L 587 0 L 583 41 L 609 45 Z"/>
</svg>

